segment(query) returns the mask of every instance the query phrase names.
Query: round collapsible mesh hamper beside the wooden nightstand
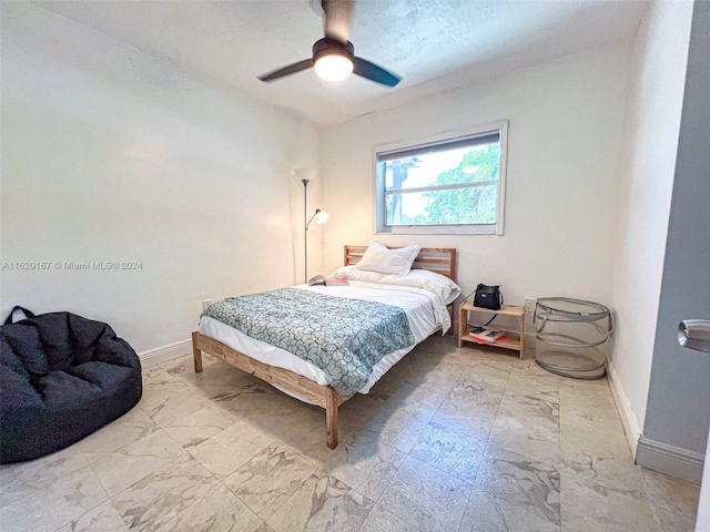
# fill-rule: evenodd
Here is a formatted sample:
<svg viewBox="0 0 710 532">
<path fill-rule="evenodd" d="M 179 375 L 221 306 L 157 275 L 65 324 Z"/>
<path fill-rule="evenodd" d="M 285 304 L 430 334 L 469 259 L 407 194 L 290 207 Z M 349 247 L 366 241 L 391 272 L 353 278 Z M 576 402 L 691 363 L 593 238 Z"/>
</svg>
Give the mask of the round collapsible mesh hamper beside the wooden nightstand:
<svg viewBox="0 0 710 532">
<path fill-rule="evenodd" d="M 554 374 L 599 379 L 606 374 L 608 340 L 613 325 L 604 305 L 567 297 L 537 300 L 535 360 Z"/>
</svg>

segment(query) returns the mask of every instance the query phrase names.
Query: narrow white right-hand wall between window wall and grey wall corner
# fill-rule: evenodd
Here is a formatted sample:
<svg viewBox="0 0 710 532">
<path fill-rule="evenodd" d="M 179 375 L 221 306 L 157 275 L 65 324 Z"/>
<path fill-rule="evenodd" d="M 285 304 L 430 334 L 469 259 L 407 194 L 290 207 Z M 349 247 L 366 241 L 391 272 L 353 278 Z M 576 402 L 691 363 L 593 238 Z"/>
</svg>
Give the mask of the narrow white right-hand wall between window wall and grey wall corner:
<svg viewBox="0 0 710 532">
<path fill-rule="evenodd" d="M 615 227 L 610 364 L 633 446 L 646 418 L 691 13 L 691 2 L 653 2 L 633 47 Z"/>
</svg>

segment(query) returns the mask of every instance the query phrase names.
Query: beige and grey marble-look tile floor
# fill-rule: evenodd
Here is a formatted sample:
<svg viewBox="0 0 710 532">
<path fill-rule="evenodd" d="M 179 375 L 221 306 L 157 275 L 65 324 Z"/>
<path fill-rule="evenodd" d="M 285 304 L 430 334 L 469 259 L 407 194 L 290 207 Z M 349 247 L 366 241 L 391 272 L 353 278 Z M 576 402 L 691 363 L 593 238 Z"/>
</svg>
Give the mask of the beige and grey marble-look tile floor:
<svg viewBox="0 0 710 532">
<path fill-rule="evenodd" d="M 219 360 L 145 368 L 131 412 L 0 468 L 2 531 L 692 531 L 699 488 L 633 464 L 606 379 L 432 337 L 320 408 Z"/>
</svg>

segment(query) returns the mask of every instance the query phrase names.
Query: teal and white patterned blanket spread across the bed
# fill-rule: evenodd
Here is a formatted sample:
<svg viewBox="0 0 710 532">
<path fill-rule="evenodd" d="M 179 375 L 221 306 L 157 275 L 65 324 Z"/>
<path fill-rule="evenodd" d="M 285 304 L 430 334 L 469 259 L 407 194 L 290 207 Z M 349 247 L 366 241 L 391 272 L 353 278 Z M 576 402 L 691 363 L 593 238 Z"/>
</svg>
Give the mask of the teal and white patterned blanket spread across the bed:
<svg viewBox="0 0 710 532">
<path fill-rule="evenodd" d="M 414 344 L 399 307 L 300 288 L 230 297 L 210 305 L 202 316 L 321 368 L 343 399 L 367 383 L 385 355 Z"/>
</svg>

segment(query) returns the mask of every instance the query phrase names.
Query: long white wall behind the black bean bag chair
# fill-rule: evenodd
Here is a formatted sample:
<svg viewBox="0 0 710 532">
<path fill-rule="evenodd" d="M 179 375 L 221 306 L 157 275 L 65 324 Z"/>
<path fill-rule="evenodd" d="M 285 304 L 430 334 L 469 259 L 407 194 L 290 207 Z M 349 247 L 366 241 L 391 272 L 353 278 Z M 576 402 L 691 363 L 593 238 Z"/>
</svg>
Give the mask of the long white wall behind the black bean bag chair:
<svg viewBox="0 0 710 532">
<path fill-rule="evenodd" d="M 3 316 L 71 310 L 142 351 L 189 338 L 203 299 L 303 275 L 312 127 L 24 2 L 2 4 L 1 83 L 1 260 L 51 264 L 0 270 Z M 142 268 L 54 267 L 91 260 Z"/>
</svg>

